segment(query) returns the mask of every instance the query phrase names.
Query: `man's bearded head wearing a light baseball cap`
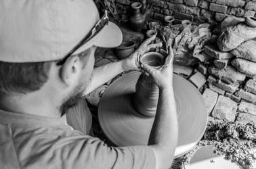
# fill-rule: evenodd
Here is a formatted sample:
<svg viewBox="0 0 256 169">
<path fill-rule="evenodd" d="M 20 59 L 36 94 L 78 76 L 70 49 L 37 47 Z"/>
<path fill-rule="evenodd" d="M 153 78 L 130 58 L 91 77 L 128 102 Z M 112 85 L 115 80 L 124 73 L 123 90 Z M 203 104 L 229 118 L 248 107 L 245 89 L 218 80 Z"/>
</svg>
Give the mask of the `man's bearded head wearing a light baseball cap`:
<svg viewBox="0 0 256 169">
<path fill-rule="evenodd" d="M 122 41 L 91 0 L 0 1 L 0 16 L 0 96 L 51 97 L 62 113 L 83 95 L 96 47 Z"/>
</svg>

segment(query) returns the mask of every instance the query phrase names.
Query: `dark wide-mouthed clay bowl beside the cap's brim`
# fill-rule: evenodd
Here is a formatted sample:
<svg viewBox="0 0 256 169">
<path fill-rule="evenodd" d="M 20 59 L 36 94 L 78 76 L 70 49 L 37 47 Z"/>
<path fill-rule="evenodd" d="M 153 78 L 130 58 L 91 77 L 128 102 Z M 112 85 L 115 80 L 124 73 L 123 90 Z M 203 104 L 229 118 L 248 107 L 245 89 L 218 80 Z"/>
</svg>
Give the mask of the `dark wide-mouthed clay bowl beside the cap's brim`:
<svg viewBox="0 0 256 169">
<path fill-rule="evenodd" d="M 123 41 L 121 45 L 114 48 L 114 52 L 119 59 L 125 59 L 135 50 L 135 43 L 133 41 Z"/>
</svg>

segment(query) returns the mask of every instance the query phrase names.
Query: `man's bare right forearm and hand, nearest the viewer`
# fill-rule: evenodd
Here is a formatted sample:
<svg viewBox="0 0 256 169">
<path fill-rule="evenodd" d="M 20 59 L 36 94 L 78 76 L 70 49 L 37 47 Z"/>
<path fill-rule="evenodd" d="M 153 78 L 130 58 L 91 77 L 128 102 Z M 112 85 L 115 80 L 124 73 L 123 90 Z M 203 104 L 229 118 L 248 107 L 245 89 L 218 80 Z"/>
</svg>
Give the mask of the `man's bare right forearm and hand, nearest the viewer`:
<svg viewBox="0 0 256 169">
<path fill-rule="evenodd" d="M 169 168 L 173 162 L 177 145 L 178 124 L 173 95 L 173 53 L 171 50 L 170 63 L 162 70 L 154 70 L 142 65 L 150 76 L 154 78 L 159 88 L 159 98 L 156 116 L 150 132 L 148 145 L 152 147 L 156 156 L 156 168 Z"/>
</svg>

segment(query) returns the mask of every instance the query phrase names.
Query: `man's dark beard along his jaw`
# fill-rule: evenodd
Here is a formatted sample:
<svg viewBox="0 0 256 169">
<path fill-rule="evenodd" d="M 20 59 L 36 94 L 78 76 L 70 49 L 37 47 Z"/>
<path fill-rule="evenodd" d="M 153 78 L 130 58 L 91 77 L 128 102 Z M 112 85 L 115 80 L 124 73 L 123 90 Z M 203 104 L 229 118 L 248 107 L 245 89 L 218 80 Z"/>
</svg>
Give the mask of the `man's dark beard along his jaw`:
<svg viewBox="0 0 256 169">
<path fill-rule="evenodd" d="M 71 107 L 76 106 L 79 103 L 79 101 L 83 99 L 84 89 L 85 86 L 83 85 L 83 82 L 79 82 L 79 84 L 77 84 L 77 87 L 74 89 L 72 94 L 64 99 L 62 105 L 60 105 L 60 112 L 62 116 L 66 114 L 66 112 Z"/>
</svg>

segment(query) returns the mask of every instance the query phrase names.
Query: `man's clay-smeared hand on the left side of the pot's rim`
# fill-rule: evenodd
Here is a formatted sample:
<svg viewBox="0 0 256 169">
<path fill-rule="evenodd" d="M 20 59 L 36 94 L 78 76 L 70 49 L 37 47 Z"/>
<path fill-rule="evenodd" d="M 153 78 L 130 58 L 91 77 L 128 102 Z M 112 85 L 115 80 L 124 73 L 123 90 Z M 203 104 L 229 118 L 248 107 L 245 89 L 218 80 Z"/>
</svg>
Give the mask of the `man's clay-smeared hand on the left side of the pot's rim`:
<svg viewBox="0 0 256 169">
<path fill-rule="evenodd" d="M 139 69 L 140 68 L 140 64 L 139 64 L 140 56 L 143 55 L 144 53 L 150 51 L 150 49 L 156 49 L 157 47 L 162 47 L 162 43 L 150 44 L 150 43 L 152 43 L 152 41 L 154 41 L 154 39 L 156 39 L 156 34 L 154 36 L 146 39 L 140 45 L 140 47 L 138 47 L 138 49 L 136 49 L 136 51 L 134 53 L 131 53 L 131 55 L 129 55 L 129 57 L 122 60 L 122 62 L 123 62 L 122 66 L 125 71 L 140 70 Z"/>
</svg>

